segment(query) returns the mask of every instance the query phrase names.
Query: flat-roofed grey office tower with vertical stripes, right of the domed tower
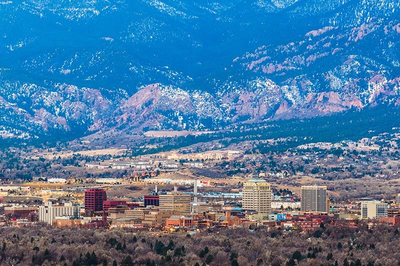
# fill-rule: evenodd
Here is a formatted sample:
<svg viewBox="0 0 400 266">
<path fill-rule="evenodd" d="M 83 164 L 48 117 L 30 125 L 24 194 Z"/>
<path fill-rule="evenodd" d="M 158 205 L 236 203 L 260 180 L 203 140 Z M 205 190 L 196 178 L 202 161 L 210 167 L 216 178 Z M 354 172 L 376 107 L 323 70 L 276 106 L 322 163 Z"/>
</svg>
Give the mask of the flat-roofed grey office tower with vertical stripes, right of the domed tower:
<svg viewBox="0 0 400 266">
<path fill-rule="evenodd" d="M 301 186 L 301 211 L 326 213 L 326 186 Z"/>
</svg>

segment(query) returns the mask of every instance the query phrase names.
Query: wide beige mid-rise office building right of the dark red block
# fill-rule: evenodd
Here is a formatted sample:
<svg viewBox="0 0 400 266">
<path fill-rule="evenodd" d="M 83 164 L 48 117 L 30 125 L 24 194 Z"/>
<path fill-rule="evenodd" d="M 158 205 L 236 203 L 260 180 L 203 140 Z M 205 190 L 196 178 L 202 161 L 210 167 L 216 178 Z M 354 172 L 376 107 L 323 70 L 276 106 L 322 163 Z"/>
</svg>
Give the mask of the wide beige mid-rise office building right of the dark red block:
<svg viewBox="0 0 400 266">
<path fill-rule="evenodd" d="M 160 211 L 179 212 L 181 215 L 188 215 L 191 213 L 190 195 L 176 191 L 160 194 L 158 208 Z"/>
</svg>

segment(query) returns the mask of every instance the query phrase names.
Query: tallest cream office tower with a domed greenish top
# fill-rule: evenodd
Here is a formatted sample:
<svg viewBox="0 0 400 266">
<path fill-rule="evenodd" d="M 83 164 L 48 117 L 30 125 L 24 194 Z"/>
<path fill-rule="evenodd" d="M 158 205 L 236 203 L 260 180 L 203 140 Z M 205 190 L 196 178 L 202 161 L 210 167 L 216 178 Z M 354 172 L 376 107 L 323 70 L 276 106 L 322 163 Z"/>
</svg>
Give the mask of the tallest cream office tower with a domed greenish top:
<svg viewBox="0 0 400 266">
<path fill-rule="evenodd" d="M 242 197 L 244 210 L 271 212 L 271 186 L 264 179 L 252 178 L 244 183 Z"/>
</svg>

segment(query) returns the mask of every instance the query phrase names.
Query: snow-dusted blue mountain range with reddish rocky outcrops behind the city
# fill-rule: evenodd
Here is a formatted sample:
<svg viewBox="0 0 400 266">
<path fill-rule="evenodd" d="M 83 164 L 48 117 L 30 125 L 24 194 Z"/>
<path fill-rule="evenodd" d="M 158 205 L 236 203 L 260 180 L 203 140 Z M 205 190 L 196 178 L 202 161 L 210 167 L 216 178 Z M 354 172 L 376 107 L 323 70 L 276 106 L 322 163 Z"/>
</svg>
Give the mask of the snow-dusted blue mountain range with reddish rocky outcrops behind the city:
<svg viewBox="0 0 400 266">
<path fill-rule="evenodd" d="M 0 135 L 400 105 L 396 0 L 0 0 Z"/>
</svg>

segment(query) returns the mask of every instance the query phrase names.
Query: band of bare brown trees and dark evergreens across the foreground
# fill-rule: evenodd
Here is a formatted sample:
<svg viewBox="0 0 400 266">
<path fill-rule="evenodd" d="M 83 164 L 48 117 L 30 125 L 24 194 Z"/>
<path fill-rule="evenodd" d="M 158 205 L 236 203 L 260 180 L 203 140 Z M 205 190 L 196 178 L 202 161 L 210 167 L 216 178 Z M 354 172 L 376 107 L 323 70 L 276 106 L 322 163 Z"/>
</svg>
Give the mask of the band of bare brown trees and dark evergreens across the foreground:
<svg viewBox="0 0 400 266">
<path fill-rule="evenodd" d="M 280 229 L 212 229 L 151 236 L 109 231 L 2 228 L 0 265 L 57 266 L 260 266 L 398 265 L 397 229 L 361 224 L 357 229 L 321 226 L 310 233 Z"/>
</svg>

